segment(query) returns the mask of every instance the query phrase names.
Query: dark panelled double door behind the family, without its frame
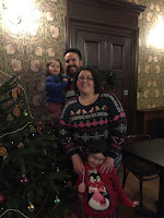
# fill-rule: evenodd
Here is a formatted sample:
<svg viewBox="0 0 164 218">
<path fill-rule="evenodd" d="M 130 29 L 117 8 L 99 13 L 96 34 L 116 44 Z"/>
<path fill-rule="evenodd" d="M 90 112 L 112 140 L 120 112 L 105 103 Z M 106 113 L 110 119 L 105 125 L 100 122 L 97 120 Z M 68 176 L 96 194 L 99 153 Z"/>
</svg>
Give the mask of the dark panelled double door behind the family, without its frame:
<svg viewBox="0 0 164 218">
<path fill-rule="evenodd" d="M 77 31 L 77 38 L 72 41 L 73 47 L 80 49 L 83 56 L 83 65 L 96 65 L 98 69 L 110 69 L 116 75 L 116 96 L 122 104 L 128 119 L 128 133 L 130 133 L 130 114 L 134 111 L 136 97 L 131 98 L 133 87 L 130 87 L 131 65 L 131 39 L 127 36 L 119 36 L 119 32 L 112 35 L 101 33 L 102 29 L 84 28 Z M 132 89 L 130 89 L 132 88 Z M 131 101 L 132 99 L 132 101 Z M 132 106 L 131 106 L 132 105 Z"/>
</svg>

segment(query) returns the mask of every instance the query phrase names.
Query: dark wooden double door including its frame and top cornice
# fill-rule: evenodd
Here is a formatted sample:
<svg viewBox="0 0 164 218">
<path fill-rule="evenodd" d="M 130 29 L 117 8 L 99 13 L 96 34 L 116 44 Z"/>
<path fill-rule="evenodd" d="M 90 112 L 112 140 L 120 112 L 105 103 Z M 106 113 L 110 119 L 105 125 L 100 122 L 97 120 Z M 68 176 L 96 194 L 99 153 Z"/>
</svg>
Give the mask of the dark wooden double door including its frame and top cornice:
<svg viewBox="0 0 164 218">
<path fill-rule="evenodd" d="M 66 47 L 79 48 L 84 65 L 114 71 L 127 134 L 137 131 L 138 16 L 143 10 L 124 0 L 67 0 Z"/>
</svg>

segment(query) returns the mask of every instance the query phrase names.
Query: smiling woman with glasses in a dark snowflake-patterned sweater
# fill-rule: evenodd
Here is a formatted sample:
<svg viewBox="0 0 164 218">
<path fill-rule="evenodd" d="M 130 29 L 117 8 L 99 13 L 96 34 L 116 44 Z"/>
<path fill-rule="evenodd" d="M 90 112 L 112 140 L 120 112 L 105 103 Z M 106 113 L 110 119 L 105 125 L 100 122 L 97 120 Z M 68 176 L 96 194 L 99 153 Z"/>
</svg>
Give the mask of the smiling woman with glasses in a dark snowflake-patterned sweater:
<svg viewBox="0 0 164 218">
<path fill-rule="evenodd" d="M 91 141 L 108 138 L 109 153 L 101 166 L 102 172 L 117 172 L 121 161 L 121 143 L 127 131 L 126 114 L 121 104 L 112 92 L 101 87 L 98 71 L 86 66 L 80 69 L 74 78 L 74 89 L 79 93 L 67 102 L 61 120 L 61 144 L 72 159 L 75 173 L 84 171 L 83 159 Z"/>
</svg>

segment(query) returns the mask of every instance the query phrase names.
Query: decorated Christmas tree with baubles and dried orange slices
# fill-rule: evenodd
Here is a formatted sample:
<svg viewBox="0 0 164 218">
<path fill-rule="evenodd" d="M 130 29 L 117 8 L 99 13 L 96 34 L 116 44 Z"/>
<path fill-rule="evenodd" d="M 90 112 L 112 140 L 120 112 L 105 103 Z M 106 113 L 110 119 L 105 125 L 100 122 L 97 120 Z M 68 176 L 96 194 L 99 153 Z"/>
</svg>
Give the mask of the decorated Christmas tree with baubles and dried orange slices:
<svg viewBox="0 0 164 218">
<path fill-rule="evenodd" d="M 67 217 L 77 195 L 59 145 L 51 124 L 32 117 L 16 77 L 1 85 L 0 217 Z"/>
</svg>

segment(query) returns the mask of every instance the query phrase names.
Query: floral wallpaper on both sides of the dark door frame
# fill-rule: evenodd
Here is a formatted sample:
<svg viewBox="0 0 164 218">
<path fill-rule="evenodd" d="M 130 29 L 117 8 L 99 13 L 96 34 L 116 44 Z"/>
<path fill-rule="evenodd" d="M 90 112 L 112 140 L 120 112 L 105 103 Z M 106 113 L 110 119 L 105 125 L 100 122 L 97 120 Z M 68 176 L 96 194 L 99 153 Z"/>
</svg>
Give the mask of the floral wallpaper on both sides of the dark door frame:
<svg viewBox="0 0 164 218">
<path fill-rule="evenodd" d="M 35 36 L 14 35 L 0 17 L 0 82 L 17 74 L 34 117 L 47 119 L 45 64 L 65 50 L 66 0 L 34 0 L 40 11 Z M 145 5 L 139 16 L 138 109 L 164 107 L 163 51 L 147 45 L 150 29 L 164 12 L 163 0 L 126 0 Z"/>
</svg>

